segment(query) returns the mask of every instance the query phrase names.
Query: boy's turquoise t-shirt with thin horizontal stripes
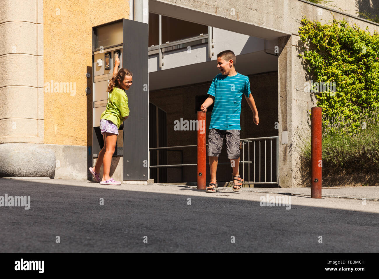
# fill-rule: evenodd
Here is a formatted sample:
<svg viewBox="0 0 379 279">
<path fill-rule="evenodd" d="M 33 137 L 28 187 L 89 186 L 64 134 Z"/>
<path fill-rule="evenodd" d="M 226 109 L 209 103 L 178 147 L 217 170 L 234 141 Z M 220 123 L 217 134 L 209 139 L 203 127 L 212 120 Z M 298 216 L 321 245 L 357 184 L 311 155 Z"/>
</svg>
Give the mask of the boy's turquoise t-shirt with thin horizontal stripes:
<svg viewBox="0 0 379 279">
<path fill-rule="evenodd" d="M 250 96 L 249 77 L 237 73 L 235 76 L 214 77 L 208 94 L 215 97 L 209 129 L 241 130 L 241 99 Z"/>
</svg>

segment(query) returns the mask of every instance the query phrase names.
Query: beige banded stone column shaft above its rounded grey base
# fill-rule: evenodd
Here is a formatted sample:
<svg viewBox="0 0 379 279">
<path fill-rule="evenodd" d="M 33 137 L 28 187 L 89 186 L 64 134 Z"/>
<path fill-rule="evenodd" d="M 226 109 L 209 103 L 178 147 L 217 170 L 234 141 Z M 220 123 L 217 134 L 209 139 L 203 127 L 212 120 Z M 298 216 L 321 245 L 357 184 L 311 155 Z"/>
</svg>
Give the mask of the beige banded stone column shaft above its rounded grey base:
<svg viewBox="0 0 379 279">
<path fill-rule="evenodd" d="M 42 0 L 0 1 L 0 143 L 42 143 Z"/>
</svg>

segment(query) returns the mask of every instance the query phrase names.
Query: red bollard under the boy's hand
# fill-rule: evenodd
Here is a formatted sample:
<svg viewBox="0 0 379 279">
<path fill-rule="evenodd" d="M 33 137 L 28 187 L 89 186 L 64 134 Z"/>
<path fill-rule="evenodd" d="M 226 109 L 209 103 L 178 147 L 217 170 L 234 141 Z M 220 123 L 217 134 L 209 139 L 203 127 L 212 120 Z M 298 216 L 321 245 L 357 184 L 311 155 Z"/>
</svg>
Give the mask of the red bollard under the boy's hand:
<svg viewBox="0 0 379 279">
<path fill-rule="evenodd" d="M 199 129 L 197 129 L 197 189 L 205 190 L 205 184 L 207 183 L 206 179 L 206 169 L 205 167 L 207 162 L 206 157 L 206 145 L 205 145 L 205 136 L 206 136 L 206 113 L 202 111 L 197 112 L 197 122 Z"/>
</svg>

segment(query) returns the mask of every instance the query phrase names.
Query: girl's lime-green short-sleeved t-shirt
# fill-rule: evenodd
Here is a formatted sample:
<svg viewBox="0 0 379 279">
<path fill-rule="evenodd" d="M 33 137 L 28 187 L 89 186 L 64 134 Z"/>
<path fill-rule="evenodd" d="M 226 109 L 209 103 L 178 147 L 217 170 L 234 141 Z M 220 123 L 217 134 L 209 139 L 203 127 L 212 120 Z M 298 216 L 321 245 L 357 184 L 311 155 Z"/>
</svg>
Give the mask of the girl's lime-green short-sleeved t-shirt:
<svg viewBox="0 0 379 279">
<path fill-rule="evenodd" d="M 117 125 L 118 129 L 120 128 L 121 123 L 124 121 L 124 117 L 128 115 L 128 96 L 124 90 L 118 87 L 114 87 L 111 93 L 109 93 L 106 109 L 101 114 L 100 119 L 107 119 L 112 121 Z"/>
</svg>

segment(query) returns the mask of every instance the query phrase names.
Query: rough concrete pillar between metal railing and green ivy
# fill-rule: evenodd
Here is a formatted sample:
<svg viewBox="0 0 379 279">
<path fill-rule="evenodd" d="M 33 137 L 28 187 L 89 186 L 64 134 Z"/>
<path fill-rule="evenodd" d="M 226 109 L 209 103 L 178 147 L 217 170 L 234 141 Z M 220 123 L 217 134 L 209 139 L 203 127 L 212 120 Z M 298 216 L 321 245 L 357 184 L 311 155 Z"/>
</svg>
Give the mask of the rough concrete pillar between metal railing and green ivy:
<svg viewBox="0 0 379 279">
<path fill-rule="evenodd" d="M 299 36 L 278 39 L 281 50 L 278 58 L 278 112 L 279 112 L 279 186 L 306 187 L 310 180 L 301 162 L 301 147 L 310 139 L 310 109 L 316 106 L 313 93 L 305 90 L 308 75 L 299 54 Z M 283 131 L 287 143 L 283 144 Z"/>
</svg>

